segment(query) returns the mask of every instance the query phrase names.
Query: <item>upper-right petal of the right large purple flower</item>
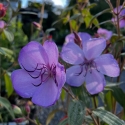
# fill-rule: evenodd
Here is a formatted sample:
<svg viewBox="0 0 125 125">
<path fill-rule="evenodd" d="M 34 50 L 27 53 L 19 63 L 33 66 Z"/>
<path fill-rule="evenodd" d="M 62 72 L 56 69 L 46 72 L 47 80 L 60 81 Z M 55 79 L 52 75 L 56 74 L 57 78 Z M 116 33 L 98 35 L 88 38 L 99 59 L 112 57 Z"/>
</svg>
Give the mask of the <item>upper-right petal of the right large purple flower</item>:
<svg viewBox="0 0 125 125">
<path fill-rule="evenodd" d="M 90 39 L 84 44 L 83 52 L 86 59 L 91 60 L 98 57 L 106 47 L 104 38 Z"/>
</svg>

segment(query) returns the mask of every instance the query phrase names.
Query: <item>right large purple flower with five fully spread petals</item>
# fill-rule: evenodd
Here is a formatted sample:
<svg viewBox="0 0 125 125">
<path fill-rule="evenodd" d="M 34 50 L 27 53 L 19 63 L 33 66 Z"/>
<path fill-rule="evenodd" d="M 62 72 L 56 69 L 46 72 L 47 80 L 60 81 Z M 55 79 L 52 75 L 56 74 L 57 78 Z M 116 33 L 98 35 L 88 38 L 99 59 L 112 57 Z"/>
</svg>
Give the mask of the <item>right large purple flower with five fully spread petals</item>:
<svg viewBox="0 0 125 125">
<path fill-rule="evenodd" d="M 117 77 L 120 72 L 118 63 L 111 54 L 101 55 L 105 47 L 104 38 L 93 38 L 83 42 L 83 49 L 74 42 L 66 44 L 61 57 L 74 65 L 66 70 L 66 82 L 76 87 L 85 82 L 90 94 L 101 92 L 106 85 L 104 75 Z"/>
</svg>

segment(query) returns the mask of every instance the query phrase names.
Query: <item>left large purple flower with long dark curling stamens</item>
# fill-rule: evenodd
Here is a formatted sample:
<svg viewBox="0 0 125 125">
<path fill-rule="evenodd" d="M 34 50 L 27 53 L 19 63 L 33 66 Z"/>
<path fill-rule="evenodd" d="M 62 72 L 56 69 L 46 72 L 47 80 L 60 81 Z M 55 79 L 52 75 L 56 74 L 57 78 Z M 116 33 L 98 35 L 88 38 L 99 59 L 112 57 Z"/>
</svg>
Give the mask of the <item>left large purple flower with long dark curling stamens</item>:
<svg viewBox="0 0 125 125">
<path fill-rule="evenodd" d="M 11 75 L 15 91 L 21 97 L 31 97 L 37 105 L 53 105 L 66 79 L 58 55 L 58 48 L 52 41 L 46 41 L 43 46 L 32 41 L 23 47 L 18 58 L 22 69 Z"/>
</svg>

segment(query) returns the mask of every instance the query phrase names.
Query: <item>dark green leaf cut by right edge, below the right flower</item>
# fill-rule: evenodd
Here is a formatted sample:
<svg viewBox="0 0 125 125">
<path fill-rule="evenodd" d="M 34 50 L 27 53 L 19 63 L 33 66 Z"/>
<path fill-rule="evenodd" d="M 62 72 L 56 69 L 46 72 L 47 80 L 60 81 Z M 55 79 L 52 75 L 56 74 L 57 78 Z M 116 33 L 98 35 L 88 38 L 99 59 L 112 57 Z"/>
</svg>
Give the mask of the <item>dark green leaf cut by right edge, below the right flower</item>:
<svg viewBox="0 0 125 125">
<path fill-rule="evenodd" d="M 125 110 L 125 93 L 119 87 L 112 87 L 112 95 L 116 99 L 116 101 L 124 108 Z"/>
</svg>

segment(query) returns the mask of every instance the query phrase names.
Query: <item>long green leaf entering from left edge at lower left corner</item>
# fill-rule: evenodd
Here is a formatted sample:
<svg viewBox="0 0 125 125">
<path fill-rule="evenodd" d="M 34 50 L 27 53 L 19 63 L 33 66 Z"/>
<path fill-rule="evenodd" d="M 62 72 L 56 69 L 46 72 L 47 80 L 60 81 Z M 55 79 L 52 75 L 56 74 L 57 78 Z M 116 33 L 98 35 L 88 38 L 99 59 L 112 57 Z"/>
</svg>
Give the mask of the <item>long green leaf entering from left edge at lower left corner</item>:
<svg viewBox="0 0 125 125">
<path fill-rule="evenodd" d="M 8 110 L 8 112 L 10 113 L 12 118 L 14 119 L 15 116 L 14 116 L 14 112 L 12 110 L 10 102 L 6 98 L 0 97 L 0 104 Z"/>
</svg>

